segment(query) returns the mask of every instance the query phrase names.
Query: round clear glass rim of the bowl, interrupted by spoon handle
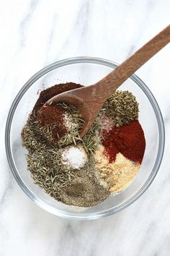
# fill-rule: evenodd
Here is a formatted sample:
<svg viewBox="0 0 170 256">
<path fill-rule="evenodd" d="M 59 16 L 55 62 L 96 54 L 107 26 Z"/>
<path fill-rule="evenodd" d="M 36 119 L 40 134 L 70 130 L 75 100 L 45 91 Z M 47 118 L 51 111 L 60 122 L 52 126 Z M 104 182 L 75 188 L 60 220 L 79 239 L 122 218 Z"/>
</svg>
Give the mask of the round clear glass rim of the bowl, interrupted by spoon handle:
<svg viewBox="0 0 170 256">
<path fill-rule="evenodd" d="M 138 190 L 138 192 L 135 193 L 130 199 L 128 199 L 126 202 L 122 202 L 120 205 L 117 205 L 116 207 L 110 208 L 109 210 L 102 210 L 101 212 L 97 213 L 66 213 L 64 210 L 58 210 L 57 208 L 53 207 L 52 205 L 48 205 L 47 203 L 43 202 L 40 198 L 38 198 L 33 192 L 30 191 L 30 189 L 27 188 L 27 186 L 24 184 L 22 179 L 20 178 L 17 168 L 14 165 L 14 161 L 12 158 L 12 150 L 10 145 L 10 132 L 11 132 L 11 126 L 12 126 L 12 119 L 14 116 L 14 112 L 17 108 L 17 105 L 24 95 L 24 93 L 30 88 L 30 86 L 38 80 L 40 77 L 42 77 L 44 74 L 47 74 L 48 72 L 51 72 L 53 69 L 57 69 L 59 67 L 63 67 L 70 64 L 100 64 L 103 66 L 111 67 L 115 69 L 119 64 L 115 63 L 114 61 L 109 61 L 107 59 L 101 59 L 96 57 L 90 57 L 90 56 L 78 56 L 78 57 L 72 57 L 68 59 L 63 59 L 61 61 L 55 61 L 54 63 L 48 65 L 47 67 L 44 67 L 40 69 L 39 72 L 35 73 L 30 80 L 28 80 L 24 86 L 19 90 L 19 93 L 17 93 L 17 96 L 14 98 L 14 101 L 12 103 L 11 108 L 9 109 L 9 114 L 6 119 L 6 129 L 5 129 L 5 148 L 6 148 L 6 157 L 7 161 L 9 163 L 9 167 L 12 171 L 12 174 L 14 178 L 16 179 L 17 183 L 19 184 L 19 187 L 22 188 L 24 193 L 30 197 L 31 200 L 33 200 L 37 205 L 40 206 L 40 208 L 53 213 L 56 216 L 61 216 L 64 218 L 70 218 L 70 219 L 81 219 L 81 220 L 91 220 L 96 218 L 102 218 L 105 216 L 110 216 L 114 213 L 119 212 L 120 210 L 123 210 L 127 208 L 129 205 L 131 205 L 135 200 L 138 200 L 138 198 L 143 195 L 143 193 L 148 189 L 148 187 L 153 182 L 153 179 L 156 177 L 156 174 L 158 173 L 158 168 L 161 165 L 161 161 L 164 155 L 164 145 L 165 145 L 165 129 L 164 129 L 164 120 L 161 114 L 161 110 L 158 106 L 158 103 L 156 102 L 156 99 L 154 98 L 153 94 L 151 93 L 151 90 L 148 89 L 147 85 L 140 80 L 140 78 L 136 74 L 132 74 L 130 77 L 133 82 L 135 82 L 141 90 L 143 90 L 143 93 L 147 96 L 148 100 L 151 103 L 151 106 L 153 107 L 153 111 L 156 115 L 156 119 L 158 122 L 158 153 L 156 156 L 156 162 L 153 166 L 153 169 L 151 171 L 150 176 L 148 177 L 147 181 L 143 184 L 142 187 Z"/>
</svg>

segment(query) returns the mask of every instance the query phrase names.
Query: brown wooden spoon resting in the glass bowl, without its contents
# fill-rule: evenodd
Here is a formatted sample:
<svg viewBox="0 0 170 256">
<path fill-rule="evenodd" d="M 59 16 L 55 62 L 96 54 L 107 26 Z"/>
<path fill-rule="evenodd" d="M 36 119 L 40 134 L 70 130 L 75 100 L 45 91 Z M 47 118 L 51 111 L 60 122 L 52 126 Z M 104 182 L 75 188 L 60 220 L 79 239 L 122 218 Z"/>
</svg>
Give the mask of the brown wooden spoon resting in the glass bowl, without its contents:
<svg viewBox="0 0 170 256">
<path fill-rule="evenodd" d="M 170 42 L 170 25 L 99 82 L 55 95 L 45 103 L 65 102 L 79 109 L 85 123 L 80 136 L 88 132 L 104 102 L 125 80 Z"/>
</svg>

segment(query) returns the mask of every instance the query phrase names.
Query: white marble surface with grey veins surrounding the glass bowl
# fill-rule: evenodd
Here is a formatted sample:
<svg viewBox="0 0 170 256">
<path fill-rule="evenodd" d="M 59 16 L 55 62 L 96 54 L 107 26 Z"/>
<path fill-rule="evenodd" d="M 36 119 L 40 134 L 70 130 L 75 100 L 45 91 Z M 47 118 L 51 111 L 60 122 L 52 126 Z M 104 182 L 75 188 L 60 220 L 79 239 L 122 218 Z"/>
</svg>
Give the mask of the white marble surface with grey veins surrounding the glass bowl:
<svg viewBox="0 0 170 256">
<path fill-rule="evenodd" d="M 71 221 L 38 208 L 15 182 L 4 148 L 9 107 L 42 67 L 71 56 L 120 63 L 169 24 L 169 0 L 1 0 L 0 255 L 170 255 L 170 45 L 136 74 L 161 108 L 166 148 L 151 187 L 129 208 Z M 161 85 L 161 91 L 159 89 Z"/>
</svg>

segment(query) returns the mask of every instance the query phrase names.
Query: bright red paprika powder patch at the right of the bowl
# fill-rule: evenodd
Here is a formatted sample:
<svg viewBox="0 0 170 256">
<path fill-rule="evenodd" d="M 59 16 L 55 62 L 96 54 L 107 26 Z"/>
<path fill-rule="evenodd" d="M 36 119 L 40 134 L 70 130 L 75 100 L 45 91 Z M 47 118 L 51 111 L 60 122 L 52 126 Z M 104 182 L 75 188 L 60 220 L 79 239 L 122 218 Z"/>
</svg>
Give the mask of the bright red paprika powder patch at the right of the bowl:
<svg viewBox="0 0 170 256">
<path fill-rule="evenodd" d="M 146 140 L 143 129 L 138 121 L 122 127 L 112 127 L 109 132 L 104 132 L 105 153 L 109 162 L 115 161 L 117 153 L 122 153 L 125 158 L 135 163 L 141 163 L 146 148 Z"/>
</svg>

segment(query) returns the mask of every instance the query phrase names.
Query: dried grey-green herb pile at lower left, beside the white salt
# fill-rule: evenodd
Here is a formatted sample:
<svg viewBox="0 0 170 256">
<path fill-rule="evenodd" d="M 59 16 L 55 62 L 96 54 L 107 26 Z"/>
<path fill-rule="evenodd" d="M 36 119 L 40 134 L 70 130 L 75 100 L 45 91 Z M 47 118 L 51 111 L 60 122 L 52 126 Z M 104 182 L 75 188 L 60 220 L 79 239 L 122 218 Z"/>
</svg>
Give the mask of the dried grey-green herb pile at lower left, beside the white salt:
<svg viewBox="0 0 170 256">
<path fill-rule="evenodd" d="M 27 154 L 27 167 L 32 179 L 49 195 L 61 200 L 61 189 L 76 175 L 76 170 L 61 163 L 61 150 L 35 150 Z"/>
</svg>

